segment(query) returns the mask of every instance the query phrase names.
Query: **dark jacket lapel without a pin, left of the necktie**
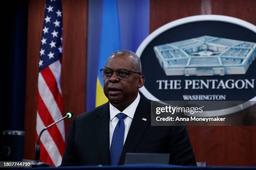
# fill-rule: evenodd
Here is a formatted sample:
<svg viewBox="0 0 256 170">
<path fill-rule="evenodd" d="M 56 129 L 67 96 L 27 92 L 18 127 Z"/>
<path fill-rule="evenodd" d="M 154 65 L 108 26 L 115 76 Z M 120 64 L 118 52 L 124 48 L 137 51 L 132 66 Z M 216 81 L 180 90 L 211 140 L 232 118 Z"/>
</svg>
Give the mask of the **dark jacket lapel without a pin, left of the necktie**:
<svg viewBox="0 0 256 170">
<path fill-rule="evenodd" d="M 96 113 L 95 131 L 102 165 L 109 165 L 109 102 Z"/>
</svg>

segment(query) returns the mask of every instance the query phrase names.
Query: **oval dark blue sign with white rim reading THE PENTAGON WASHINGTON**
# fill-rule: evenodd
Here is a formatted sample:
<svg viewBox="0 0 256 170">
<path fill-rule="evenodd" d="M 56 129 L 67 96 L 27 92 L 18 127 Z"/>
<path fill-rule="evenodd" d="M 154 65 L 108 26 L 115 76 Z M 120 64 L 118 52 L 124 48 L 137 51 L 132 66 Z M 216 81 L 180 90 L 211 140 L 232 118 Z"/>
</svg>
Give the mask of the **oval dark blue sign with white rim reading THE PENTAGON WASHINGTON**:
<svg viewBox="0 0 256 170">
<path fill-rule="evenodd" d="M 152 32 L 136 51 L 151 100 L 256 100 L 256 26 L 197 15 Z"/>
</svg>

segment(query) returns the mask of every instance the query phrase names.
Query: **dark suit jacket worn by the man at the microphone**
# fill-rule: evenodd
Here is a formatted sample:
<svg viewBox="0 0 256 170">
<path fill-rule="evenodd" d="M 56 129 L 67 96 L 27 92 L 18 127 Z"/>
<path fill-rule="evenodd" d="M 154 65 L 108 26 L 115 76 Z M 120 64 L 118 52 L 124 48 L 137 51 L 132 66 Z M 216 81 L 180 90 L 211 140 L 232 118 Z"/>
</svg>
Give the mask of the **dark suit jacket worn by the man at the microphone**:
<svg viewBox="0 0 256 170">
<path fill-rule="evenodd" d="M 61 166 L 110 165 L 109 121 L 109 102 L 74 117 Z M 119 165 L 123 165 L 126 153 L 170 153 L 169 164 L 196 165 L 186 128 L 151 126 L 151 100 L 142 94 Z"/>
</svg>

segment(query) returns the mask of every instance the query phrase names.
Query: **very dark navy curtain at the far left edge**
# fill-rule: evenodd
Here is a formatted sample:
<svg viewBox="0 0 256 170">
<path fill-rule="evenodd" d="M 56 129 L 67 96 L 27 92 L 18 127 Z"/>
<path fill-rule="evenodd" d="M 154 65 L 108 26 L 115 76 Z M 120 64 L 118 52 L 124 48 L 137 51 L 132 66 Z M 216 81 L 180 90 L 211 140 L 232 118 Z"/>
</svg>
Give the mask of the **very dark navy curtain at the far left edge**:
<svg viewBox="0 0 256 170">
<path fill-rule="evenodd" d="M 7 3 L 7 87 L 4 90 L 7 108 L 2 113 L 2 130 L 24 130 L 28 0 Z"/>
</svg>

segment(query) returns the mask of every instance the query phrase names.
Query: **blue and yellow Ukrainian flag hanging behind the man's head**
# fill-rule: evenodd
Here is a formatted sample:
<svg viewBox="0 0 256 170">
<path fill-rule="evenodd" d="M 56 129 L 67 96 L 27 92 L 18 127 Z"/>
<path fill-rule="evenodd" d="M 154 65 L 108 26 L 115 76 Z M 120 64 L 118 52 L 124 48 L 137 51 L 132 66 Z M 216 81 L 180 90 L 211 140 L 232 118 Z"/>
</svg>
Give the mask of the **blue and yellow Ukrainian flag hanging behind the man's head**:
<svg viewBox="0 0 256 170">
<path fill-rule="evenodd" d="M 105 67 L 108 57 L 120 50 L 120 28 L 117 0 L 104 0 L 102 13 L 102 28 L 100 38 L 100 56 L 96 84 L 96 107 L 108 102 L 103 92 L 103 78 L 100 69 Z"/>
</svg>

